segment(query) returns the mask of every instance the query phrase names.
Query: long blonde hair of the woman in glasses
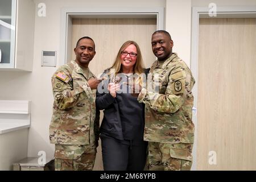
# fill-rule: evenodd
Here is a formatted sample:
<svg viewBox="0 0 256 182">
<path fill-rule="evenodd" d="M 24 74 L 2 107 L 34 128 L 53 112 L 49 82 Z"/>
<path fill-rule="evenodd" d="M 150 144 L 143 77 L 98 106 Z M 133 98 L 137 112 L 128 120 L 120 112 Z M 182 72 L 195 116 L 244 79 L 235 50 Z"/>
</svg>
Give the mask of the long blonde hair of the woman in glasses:
<svg viewBox="0 0 256 182">
<path fill-rule="evenodd" d="M 135 65 L 133 67 L 133 72 L 137 73 L 138 75 L 140 75 L 141 73 L 144 73 L 141 49 L 139 49 L 139 46 L 136 42 L 134 42 L 132 40 L 128 40 L 125 43 L 123 43 L 123 45 L 121 46 L 121 48 L 119 49 L 119 51 L 117 53 L 117 57 L 115 57 L 114 64 L 112 65 L 112 67 L 110 67 L 110 69 L 115 70 L 115 75 L 122 72 L 121 52 L 124 51 L 131 44 L 133 44 L 137 49 L 137 59 L 136 59 Z"/>
</svg>

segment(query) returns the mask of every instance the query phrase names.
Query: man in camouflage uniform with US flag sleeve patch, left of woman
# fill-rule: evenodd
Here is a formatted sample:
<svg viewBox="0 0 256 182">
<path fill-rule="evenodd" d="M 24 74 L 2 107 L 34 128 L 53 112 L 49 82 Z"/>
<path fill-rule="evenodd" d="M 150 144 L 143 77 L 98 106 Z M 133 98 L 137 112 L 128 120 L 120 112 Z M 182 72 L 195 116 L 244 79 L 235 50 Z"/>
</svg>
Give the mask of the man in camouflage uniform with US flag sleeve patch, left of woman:
<svg viewBox="0 0 256 182">
<path fill-rule="evenodd" d="M 95 44 L 82 37 L 74 49 L 76 60 L 61 66 L 52 76 L 53 115 L 49 139 L 55 144 L 55 170 L 92 170 L 98 143 L 99 113 L 96 88 L 100 80 L 88 65 Z"/>
</svg>

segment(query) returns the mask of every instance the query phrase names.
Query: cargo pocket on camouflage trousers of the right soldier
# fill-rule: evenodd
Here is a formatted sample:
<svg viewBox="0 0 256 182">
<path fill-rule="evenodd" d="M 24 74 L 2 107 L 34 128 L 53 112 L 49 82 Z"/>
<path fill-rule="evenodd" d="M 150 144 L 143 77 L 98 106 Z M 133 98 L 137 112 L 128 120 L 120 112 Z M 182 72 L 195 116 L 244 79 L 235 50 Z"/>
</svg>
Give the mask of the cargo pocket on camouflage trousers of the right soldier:
<svg viewBox="0 0 256 182">
<path fill-rule="evenodd" d="M 179 145 L 179 144 L 174 144 Z M 191 144 L 184 144 L 184 146 Z M 170 148 L 170 156 L 173 162 L 170 162 L 171 167 L 175 170 L 187 171 L 192 166 L 192 154 L 191 149 L 188 148 Z"/>
</svg>

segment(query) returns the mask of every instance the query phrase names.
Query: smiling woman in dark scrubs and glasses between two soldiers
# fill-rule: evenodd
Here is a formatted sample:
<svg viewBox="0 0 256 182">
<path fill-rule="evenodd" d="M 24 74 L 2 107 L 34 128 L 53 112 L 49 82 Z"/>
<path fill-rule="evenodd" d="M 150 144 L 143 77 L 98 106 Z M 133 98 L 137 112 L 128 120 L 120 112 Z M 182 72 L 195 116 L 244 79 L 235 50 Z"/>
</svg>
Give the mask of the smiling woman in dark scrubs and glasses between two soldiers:
<svg viewBox="0 0 256 182">
<path fill-rule="evenodd" d="M 96 106 L 104 110 L 100 128 L 104 170 L 143 170 L 147 142 L 143 140 L 144 105 L 131 95 L 131 85 L 142 86 L 143 62 L 134 41 L 123 43 L 106 79 L 98 86 Z"/>
</svg>

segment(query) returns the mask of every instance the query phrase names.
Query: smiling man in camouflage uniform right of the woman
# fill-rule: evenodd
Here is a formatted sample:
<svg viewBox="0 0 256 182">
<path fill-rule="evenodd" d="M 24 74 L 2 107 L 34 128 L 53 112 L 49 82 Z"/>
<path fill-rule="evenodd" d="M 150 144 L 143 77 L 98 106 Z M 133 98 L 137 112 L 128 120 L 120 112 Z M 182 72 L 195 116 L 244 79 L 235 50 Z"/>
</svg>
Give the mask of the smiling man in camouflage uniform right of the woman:
<svg viewBox="0 0 256 182">
<path fill-rule="evenodd" d="M 192 122 L 195 80 L 177 53 L 172 53 L 171 36 L 156 31 L 151 39 L 152 51 L 158 57 L 151 68 L 158 92 L 142 88 L 138 101 L 146 104 L 144 140 L 148 141 L 150 170 L 190 170 L 194 125 Z"/>
</svg>

